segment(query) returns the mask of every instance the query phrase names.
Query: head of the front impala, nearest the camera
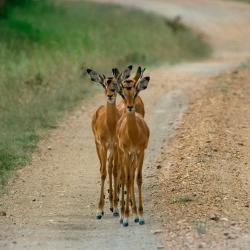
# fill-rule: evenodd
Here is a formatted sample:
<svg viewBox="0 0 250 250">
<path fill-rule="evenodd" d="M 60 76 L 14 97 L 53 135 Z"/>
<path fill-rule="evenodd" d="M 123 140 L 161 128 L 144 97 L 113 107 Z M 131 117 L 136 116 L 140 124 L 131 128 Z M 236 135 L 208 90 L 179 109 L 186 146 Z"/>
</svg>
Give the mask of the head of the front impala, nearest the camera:
<svg viewBox="0 0 250 250">
<path fill-rule="evenodd" d="M 142 77 L 144 70 L 138 67 L 134 76 L 118 81 L 117 83 L 117 92 L 123 98 L 128 113 L 135 111 L 135 98 L 139 95 L 140 91 L 148 87 L 150 77 Z"/>
</svg>

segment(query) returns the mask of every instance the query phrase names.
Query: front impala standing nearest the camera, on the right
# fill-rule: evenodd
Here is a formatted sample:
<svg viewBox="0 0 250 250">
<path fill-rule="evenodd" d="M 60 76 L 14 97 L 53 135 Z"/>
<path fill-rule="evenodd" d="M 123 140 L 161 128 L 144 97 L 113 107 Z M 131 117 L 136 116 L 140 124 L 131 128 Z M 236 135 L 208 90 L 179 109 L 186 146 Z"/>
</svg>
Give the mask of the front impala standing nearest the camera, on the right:
<svg viewBox="0 0 250 250">
<path fill-rule="evenodd" d="M 142 205 L 142 167 L 144 151 L 149 140 L 149 128 L 143 116 L 135 112 L 135 100 L 140 91 L 147 88 L 150 77 L 141 77 L 142 70 L 138 67 L 134 77 L 116 82 L 117 92 L 126 104 L 126 112 L 117 123 L 117 137 L 119 147 L 119 164 L 121 164 L 121 200 L 120 200 L 120 223 L 128 226 L 129 199 L 132 196 L 132 212 L 134 221 L 140 225 L 145 223 Z M 139 217 L 134 192 L 134 179 L 137 171 L 137 185 L 139 191 Z M 126 203 L 124 208 L 124 182 L 126 184 Z"/>
</svg>

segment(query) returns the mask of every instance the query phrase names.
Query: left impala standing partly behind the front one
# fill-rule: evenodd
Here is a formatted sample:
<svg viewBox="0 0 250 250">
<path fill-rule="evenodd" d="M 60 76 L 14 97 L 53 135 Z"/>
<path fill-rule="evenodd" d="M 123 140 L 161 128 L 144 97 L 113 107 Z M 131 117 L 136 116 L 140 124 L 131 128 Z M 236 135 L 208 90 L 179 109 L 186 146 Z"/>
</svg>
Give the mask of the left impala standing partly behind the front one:
<svg viewBox="0 0 250 250">
<path fill-rule="evenodd" d="M 108 161 L 108 174 L 109 174 L 109 202 L 110 210 L 113 216 L 119 216 L 117 208 L 117 136 L 116 124 L 121 116 L 116 107 L 116 87 L 115 83 L 118 78 L 126 79 L 130 76 L 132 66 L 128 66 L 125 71 L 120 74 L 118 69 L 113 69 L 113 77 L 106 78 L 105 75 L 100 75 L 92 69 L 87 69 L 92 81 L 97 82 L 104 88 L 104 94 L 107 98 L 106 105 L 100 106 L 92 118 L 92 131 L 95 137 L 96 151 L 100 161 L 100 174 L 101 174 L 101 192 L 98 203 L 98 210 L 96 218 L 101 219 L 104 215 L 104 183 L 107 175 L 106 163 Z M 107 157 L 109 152 L 109 157 Z M 112 189 L 112 174 L 114 177 L 114 196 Z"/>
</svg>

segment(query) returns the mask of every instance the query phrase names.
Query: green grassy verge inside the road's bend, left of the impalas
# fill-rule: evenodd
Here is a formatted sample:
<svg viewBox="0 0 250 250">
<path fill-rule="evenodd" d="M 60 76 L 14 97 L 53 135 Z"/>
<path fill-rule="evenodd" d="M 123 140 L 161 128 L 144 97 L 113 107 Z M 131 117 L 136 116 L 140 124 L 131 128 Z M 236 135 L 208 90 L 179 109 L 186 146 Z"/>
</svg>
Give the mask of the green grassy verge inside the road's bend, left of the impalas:
<svg viewBox="0 0 250 250">
<path fill-rule="evenodd" d="M 118 6 L 46 1 L 0 19 L 0 186 L 30 161 L 39 136 L 94 89 L 81 65 L 111 67 L 206 57 L 194 32 Z M 101 91 L 101 90 L 100 90 Z"/>
</svg>

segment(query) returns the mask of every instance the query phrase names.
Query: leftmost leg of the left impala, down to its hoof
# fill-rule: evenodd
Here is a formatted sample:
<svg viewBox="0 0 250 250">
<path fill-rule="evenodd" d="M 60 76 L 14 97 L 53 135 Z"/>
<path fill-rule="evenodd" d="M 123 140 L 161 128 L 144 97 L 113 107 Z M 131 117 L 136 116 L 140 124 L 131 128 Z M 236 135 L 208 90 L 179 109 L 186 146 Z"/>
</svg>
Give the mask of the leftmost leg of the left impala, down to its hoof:
<svg viewBox="0 0 250 250">
<path fill-rule="evenodd" d="M 103 216 L 103 207 L 104 207 L 104 183 L 107 176 L 107 170 L 106 170 L 106 161 L 107 161 L 107 149 L 103 147 L 102 145 L 98 146 L 98 154 L 100 155 L 100 174 L 101 174 L 101 192 L 100 192 L 100 198 L 98 203 L 98 210 L 96 213 L 96 218 L 101 219 Z"/>
</svg>

